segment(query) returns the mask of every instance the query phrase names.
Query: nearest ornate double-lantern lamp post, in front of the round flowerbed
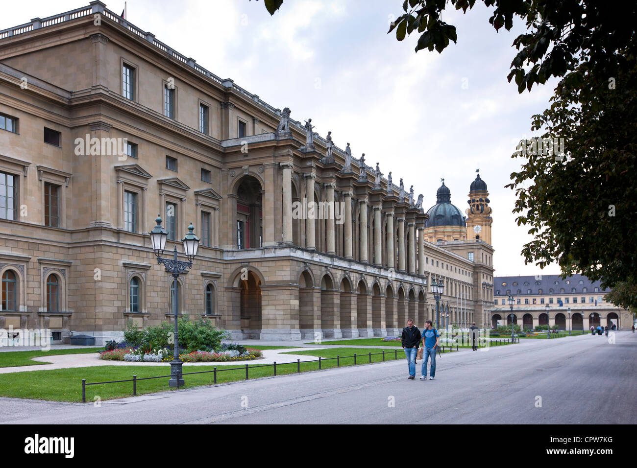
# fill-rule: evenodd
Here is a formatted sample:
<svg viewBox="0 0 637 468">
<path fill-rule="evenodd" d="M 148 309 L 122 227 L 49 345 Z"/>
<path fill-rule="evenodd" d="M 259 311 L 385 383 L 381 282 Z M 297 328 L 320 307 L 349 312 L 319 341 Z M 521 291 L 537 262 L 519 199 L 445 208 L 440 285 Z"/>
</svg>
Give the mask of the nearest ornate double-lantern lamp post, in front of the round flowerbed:
<svg viewBox="0 0 637 468">
<path fill-rule="evenodd" d="M 186 254 L 187 262 L 183 262 L 181 260 L 177 260 L 177 246 L 175 245 L 175 250 L 173 250 L 173 258 L 172 259 L 162 259 L 161 255 L 164 253 L 164 249 L 166 248 L 166 239 L 168 239 L 168 231 L 164 229 L 161 225 L 161 217 L 157 215 L 157 219 L 155 220 L 157 225 L 150 232 L 150 243 L 152 243 L 153 250 L 155 255 L 157 256 L 157 264 L 164 264 L 168 273 L 171 273 L 174 280 L 177 281 L 180 273 L 184 273 L 187 268 L 192 268 L 192 260 L 194 260 L 197 255 L 197 249 L 199 248 L 199 238 L 192 232 L 194 227 L 192 223 L 190 223 L 188 227 L 188 234 L 186 234 L 182 239 L 183 245 L 183 253 Z M 173 296 L 173 315 L 175 315 L 175 344 L 173 350 L 173 360 L 170 362 L 170 380 L 168 381 L 168 386 L 183 386 L 184 380 L 182 378 L 182 361 L 179 358 L 179 339 L 177 336 L 177 288 L 175 285 L 174 288 L 174 296 Z"/>
</svg>

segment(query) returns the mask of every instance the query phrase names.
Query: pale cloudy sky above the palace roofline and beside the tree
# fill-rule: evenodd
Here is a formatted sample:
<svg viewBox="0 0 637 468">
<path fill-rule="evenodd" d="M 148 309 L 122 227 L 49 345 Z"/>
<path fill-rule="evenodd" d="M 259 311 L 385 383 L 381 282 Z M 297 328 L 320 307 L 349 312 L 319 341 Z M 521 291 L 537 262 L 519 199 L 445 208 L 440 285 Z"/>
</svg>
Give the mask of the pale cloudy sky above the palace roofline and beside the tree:
<svg viewBox="0 0 637 468">
<path fill-rule="evenodd" d="M 124 2 L 105 2 L 119 14 Z M 285 0 L 270 17 L 262 1 L 130 0 L 127 19 L 221 78 L 275 108 L 289 107 L 301 122 L 366 162 L 380 162 L 394 183 L 404 179 L 424 206 L 435 204 L 445 178 L 452 202 L 464 211 L 475 170 L 489 187 L 496 275 L 538 274 L 520 251 L 531 239 L 515 223 L 515 194 L 504 188 L 520 162 L 520 138 L 532 136 L 531 116 L 543 111 L 555 80 L 518 94 L 506 75 L 524 32 L 496 31 L 482 3 L 443 20 L 457 28 L 457 44 L 442 54 L 414 52 L 417 35 L 396 41 L 389 22 L 402 0 Z M 0 29 L 88 4 L 39 0 L 3 5 Z M 543 274 L 559 273 L 549 266 Z"/>
</svg>

